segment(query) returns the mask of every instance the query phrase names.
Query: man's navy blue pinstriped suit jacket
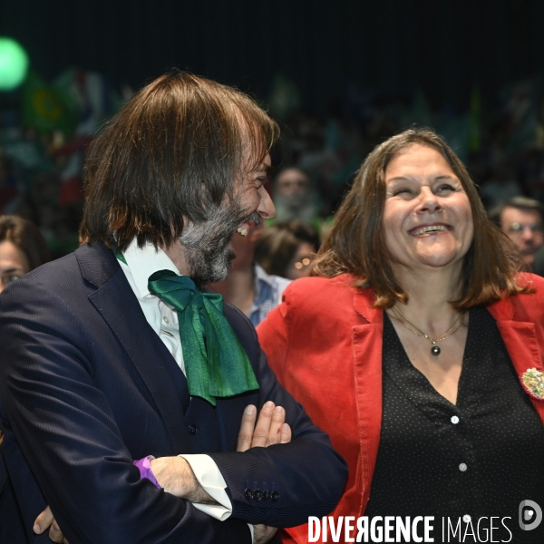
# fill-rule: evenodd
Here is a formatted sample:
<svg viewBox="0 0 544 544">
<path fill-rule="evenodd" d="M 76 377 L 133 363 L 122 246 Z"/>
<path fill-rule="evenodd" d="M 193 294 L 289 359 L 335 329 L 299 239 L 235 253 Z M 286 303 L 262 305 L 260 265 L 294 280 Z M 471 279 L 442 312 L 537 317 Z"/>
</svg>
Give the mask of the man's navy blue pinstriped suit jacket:
<svg viewBox="0 0 544 544">
<path fill-rule="evenodd" d="M 335 507 L 345 462 L 277 382 L 248 319 L 225 316 L 260 388 L 189 398 L 180 367 L 148 325 L 112 251 L 101 243 L 37 268 L 0 296 L 0 422 L 26 534 L 46 504 L 71 544 L 250 542 L 248 523 L 286 527 Z M 288 444 L 236 452 L 248 403 L 286 408 Z M 132 460 L 209 453 L 233 512 L 213 520 L 140 480 Z M 246 492 L 258 490 L 261 493 Z M 263 500 L 268 491 L 276 500 Z M 266 496 L 266 494 L 265 494 Z"/>
</svg>

